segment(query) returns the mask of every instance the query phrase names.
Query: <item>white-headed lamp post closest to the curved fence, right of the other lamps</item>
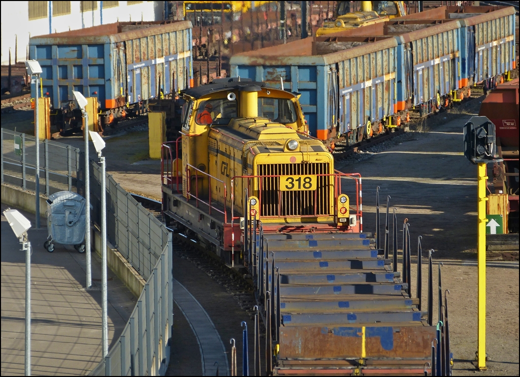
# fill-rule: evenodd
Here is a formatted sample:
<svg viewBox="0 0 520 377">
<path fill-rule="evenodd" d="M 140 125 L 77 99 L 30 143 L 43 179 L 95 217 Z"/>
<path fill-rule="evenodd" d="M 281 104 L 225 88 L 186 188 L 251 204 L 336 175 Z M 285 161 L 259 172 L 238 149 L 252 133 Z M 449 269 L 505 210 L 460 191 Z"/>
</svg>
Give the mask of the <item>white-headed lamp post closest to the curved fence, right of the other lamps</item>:
<svg viewBox="0 0 520 377">
<path fill-rule="evenodd" d="M 103 357 L 108 354 L 108 319 L 107 319 L 107 184 L 105 156 L 101 151 L 105 148 L 105 141 L 97 132 L 89 131 L 90 139 L 101 162 L 101 337 L 103 341 Z"/>
</svg>

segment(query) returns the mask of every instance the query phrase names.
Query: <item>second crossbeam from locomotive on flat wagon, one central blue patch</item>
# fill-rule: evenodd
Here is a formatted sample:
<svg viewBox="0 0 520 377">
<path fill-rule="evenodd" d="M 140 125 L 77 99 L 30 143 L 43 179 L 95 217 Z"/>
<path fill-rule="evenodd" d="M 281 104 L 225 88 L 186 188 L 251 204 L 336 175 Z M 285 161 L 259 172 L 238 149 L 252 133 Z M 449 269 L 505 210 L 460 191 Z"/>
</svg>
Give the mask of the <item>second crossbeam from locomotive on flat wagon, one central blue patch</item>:
<svg viewBox="0 0 520 377">
<path fill-rule="evenodd" d="M 346 238 L 330 240 L 270 240 L 265 242 L 269 251 L 291 251 L 291 250 L 359 250 L 370 248 L 368 238 Z M 264 246 L 266 246 L 264 244 Z"/>
</svg>

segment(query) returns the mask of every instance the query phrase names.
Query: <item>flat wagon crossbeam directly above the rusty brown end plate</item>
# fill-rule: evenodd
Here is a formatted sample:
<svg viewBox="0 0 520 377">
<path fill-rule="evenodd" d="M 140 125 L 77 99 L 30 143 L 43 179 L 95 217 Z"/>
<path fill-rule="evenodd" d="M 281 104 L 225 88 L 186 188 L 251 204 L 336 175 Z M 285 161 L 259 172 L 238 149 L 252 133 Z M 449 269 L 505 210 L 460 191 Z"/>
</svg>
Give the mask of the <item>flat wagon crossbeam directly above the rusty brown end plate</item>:
<svg viewBox="0 0 520 377">
<path fill-rule="evenodd" d="M 360 313 L 283 314 L 282 326 L 373 326 L 374 323 L 421 323 L 422 311 L 385 311 Z"/>
</svg>

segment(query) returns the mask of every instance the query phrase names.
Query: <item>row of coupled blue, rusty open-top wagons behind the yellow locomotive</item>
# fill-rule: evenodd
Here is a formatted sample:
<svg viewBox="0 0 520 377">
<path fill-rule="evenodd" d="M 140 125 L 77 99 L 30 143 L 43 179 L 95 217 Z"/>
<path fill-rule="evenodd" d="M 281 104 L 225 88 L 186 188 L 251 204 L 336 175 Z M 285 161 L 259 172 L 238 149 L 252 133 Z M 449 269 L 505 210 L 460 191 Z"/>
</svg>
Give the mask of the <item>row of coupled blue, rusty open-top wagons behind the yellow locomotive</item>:
<svg viewBox="0 0 520 377">
<path fill-rule="evenodd" d="M 515 69 L 515 22 L 513 7 L 438 7 L 237 54 L 231 75 L 301 93 L 311 136 L 355 144 Z"/>
</svg>

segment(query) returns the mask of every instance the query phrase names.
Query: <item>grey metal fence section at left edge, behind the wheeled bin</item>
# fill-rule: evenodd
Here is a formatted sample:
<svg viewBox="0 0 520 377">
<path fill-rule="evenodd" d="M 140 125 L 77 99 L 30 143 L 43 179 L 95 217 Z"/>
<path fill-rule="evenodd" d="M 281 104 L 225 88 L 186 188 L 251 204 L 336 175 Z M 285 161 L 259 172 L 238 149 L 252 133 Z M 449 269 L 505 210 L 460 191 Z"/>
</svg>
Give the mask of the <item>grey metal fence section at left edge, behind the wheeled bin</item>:
<svg viewBox="0 0 520 377">
<path fill-rule="evenodd" d="M 34 191 L 36 139 L 4 128 L 1 138 L 2 183 Z M 41 142 L 40 192 L 43 195 L 73 191 L 78 186 L 82 172 L 79 149 L 50 140 Z"/>
</svg>

